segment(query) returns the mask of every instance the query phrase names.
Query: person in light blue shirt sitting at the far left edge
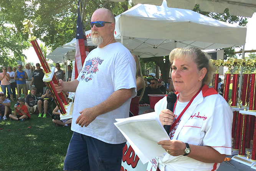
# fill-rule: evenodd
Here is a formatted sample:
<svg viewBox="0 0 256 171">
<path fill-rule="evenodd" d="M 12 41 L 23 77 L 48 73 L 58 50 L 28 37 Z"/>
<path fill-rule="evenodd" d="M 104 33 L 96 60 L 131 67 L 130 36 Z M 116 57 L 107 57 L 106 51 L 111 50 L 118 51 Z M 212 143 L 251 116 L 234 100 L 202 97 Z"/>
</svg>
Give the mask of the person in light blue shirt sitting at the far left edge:
<svg viewBox="0 0 256 171">
<path fill-rule="evenodd" d="M 12 114 L 12 109 L 10 108 L 11 101 L 6 99 L 5 94 L 1 91 L 0 92 L 0 120 L 7 120 L 9 114 Z"/>
</svg>

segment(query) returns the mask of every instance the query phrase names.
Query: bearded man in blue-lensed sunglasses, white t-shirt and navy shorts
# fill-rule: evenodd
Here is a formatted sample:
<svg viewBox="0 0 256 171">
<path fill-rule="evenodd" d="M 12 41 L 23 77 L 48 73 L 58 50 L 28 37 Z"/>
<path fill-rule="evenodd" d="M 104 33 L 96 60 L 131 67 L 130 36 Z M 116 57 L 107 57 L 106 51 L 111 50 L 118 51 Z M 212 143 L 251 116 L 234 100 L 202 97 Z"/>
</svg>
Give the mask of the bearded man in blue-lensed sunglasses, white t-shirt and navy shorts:
<svg viewBox="0 0 256 171">
<path fill-rule="evenodd" d="M 114 122 L 129 117 L 130 101 L 136 95 L 135 61 L 114 38 L 115 18 L 110 10 L 97 9 L 90 25 L 92 42 L 98 47 L 85 59 L 77 79 L 55 85 L 57 92 L 76 92 L 74 132 L 64 170 L 120 171 L 126 139 Z"/>
</svg>

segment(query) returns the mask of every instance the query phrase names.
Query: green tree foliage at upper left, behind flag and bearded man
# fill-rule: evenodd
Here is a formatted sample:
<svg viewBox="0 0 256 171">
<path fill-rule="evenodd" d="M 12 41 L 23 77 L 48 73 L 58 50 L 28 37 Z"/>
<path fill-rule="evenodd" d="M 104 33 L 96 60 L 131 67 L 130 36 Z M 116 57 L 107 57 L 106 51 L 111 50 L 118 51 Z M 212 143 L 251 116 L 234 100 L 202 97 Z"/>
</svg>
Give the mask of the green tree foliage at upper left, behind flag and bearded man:
<svg viewBox="0 0 256 171">
<path fill-rule="evenodd" d="M 86 0 L 84 21 L 101 8 L 105 1 Z M 71 41 L 76 35 L 78 0 L 0 0 L 0 64 L 17 64 L 24 61 L 22 50 L 28 49 L 28 33 L 23 33 L 23 21 L 33 24 L 33 36 L 50 50 Z M 130 2 L 109 2 L 104 8 L 119 15 L 132 7 Z M 84 22 L 85 23 L 85 22 Z M 91 29 L 89 25 L 85 30 Z"/>
</svg>

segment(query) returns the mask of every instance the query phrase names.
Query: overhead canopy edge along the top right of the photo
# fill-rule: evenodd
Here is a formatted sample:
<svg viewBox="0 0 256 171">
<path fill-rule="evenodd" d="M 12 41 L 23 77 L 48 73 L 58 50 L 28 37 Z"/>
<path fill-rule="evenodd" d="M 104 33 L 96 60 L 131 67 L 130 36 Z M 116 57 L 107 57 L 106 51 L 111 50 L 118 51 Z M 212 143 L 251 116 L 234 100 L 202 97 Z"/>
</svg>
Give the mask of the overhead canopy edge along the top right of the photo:
<svg viewBox="0 0 256 171">
<path fill-rule="evenodd" d="M 126 0 L 110 0 L 113 2 L 124 2 Z M 161 5 L 163 0 L 132 0 L 133 3 L 145 3 Z M 256 12 L 256 0 L 167 0 L 170 8 L 182 8 L 193 10 L 196 4 L 200 5 L 201 11 L 223 13 L 225 8 L 229 9 L 230 15 L 253 16 Z"/>
</svg>

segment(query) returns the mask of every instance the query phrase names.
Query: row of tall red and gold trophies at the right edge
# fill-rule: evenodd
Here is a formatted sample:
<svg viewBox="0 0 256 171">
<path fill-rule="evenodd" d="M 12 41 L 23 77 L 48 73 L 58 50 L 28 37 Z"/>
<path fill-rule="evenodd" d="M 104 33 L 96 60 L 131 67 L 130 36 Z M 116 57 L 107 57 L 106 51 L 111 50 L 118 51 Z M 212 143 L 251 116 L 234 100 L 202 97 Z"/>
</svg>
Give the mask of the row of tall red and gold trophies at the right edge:
<svg viewBox="0 0 256 171">
<path fill-rule="evenodd" d="M 256 112 L 256 59 L 235 59 L 228 60 L 211 60 L 217 70 L 214 73 L 215 90 L 218 90 L 218 68 L 220 66 L 228 67 L 225 72 L 223 97 L 228 102 L 230 107 L 234 109 L 233 125 L 232 125 L 232 148 L 238 151 L 238 156 L 245 156 L 246 150 L 250 149 L 251 140 L 253 140 L 253 150 L 251 153 L 251 161 L 256 161 L 256 131 L 255 116 L 244 113 L 239 113 L 241 110 Z M 233 68 L 233 73 L 231 73 Z M 240 72 L 243 70 L 243 73 Z M 231 74 L 233 75 L 232 95 L 229 99 Z M 242 77 L 242 82 L 239 85 L 239 77 Z M 241 86 L 241 87 L 239 87 Z M 238 97 L 238 90 L 241 90 Z M 244 107 L 244 109 L 241 109 Z M 249 109 L 249 110 L 248 110 Z M 256 130 L 256 129 L 255 129 Z"/>
</svg>

